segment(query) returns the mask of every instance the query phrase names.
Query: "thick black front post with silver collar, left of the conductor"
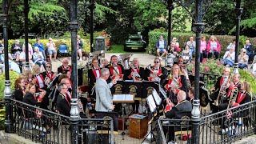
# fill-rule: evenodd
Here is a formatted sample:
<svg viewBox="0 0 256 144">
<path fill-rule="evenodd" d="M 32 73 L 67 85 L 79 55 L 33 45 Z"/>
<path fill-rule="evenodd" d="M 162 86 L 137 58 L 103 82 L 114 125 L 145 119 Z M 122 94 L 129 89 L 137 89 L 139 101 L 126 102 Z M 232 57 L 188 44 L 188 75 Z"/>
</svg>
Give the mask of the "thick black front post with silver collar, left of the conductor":
<svg viewBox="0 0 256 144">
<path fill-rule="evenodd" d="M 71 143 L 78 144 L 78 122 L 79 122 L 79 111 L 78 111 L 78 54 L 77 54 L 77 33 L 78 33 L 78 0 L 70 1 L 70 26 L 69 30 L 71 33 L 71 63 L 72 71 L 71 75 L 73 78 L 72 85 L 72 98 L 71 98 L 71 110 L 70 110 L 70 122 L 71 122 Z"/>
</svg>

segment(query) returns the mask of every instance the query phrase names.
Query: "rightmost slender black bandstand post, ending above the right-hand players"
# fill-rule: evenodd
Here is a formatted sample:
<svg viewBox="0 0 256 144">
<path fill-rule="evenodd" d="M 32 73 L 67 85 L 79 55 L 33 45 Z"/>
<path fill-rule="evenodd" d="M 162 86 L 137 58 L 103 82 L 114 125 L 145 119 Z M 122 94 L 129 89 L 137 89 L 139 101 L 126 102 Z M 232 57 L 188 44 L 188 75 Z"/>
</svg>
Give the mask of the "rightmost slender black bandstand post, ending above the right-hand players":
<svg viewBox="0 0 256 144">
<path fill-rule="evenodd" d="M 234 0 L 236 2 L 236 30 L 235 30 L 235 56 L 234 56 L 234 74 L 239 74 L 238 71 L 238 53 L 239 53 L 239 35 L 240 35 L 240 21 L 242 15 L 241 0 Z"/>
</svg>

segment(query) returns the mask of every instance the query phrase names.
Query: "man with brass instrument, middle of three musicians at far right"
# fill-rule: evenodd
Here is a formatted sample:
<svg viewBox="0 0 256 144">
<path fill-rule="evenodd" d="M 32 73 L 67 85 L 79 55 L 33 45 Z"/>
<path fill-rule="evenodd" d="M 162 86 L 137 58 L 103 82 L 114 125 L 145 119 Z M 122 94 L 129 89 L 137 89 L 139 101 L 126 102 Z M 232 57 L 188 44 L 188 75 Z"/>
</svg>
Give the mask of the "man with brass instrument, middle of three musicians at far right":
<svg viewBox="0 0 256 144">
<path fill-rule="evenodd" d="M 230 102 L 230 98 L 237 98 L 238 92 L 241 90 L 240 74 L 234 74 L 232 81 L 227 83 L 227 86 L 226 98 L 224 98 L 222 104 L 218 106 L 220 111 L 226 110 L 228 103 Z"/>
</svg>

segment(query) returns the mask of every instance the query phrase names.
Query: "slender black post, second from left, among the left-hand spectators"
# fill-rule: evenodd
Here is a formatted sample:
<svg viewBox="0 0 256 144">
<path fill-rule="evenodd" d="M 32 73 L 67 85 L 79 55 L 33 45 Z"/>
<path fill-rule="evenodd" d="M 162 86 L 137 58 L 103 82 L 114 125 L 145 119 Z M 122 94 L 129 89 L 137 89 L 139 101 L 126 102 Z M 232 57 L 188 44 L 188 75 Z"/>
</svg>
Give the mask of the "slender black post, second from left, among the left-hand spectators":
<svg viewBox="0 0 256 144">
<path fill-rule="evenodd" d="M 23 65 L 22 70 L 27 70 L 30 68 L 30 60 L 29 60 L 29 27 L 28 27 L 28 14 L 30 11 L 29 0 L 24 0 L 24 33 L 25 33 L 25 55 L 26 55 L 26 64 Z"/>
</svg>

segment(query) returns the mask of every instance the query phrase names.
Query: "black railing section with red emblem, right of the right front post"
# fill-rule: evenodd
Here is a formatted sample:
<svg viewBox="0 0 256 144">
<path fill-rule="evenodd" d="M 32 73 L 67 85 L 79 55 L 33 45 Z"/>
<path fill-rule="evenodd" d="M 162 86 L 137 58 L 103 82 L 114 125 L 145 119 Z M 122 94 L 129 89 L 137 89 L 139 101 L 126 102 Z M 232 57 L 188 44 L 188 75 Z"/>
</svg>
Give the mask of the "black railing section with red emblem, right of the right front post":
<svg viewBox="0 0 256 144">
<path fill-rule="evenodd" d="M 201 118 L 200 143 L 230 143 L 255 132 L 256 101 Z"/>
</svg>

